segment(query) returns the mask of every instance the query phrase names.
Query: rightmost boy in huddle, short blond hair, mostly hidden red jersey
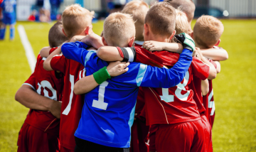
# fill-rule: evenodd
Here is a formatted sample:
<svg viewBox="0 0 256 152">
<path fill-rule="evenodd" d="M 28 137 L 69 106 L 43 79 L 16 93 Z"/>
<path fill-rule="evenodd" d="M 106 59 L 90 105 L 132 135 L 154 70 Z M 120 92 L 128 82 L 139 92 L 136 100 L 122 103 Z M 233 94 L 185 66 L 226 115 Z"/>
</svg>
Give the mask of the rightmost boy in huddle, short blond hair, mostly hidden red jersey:
<svg viewBox="0 0 256 152">
<path fill-rule="evenodd" d="M 213 16 L 201 16 L 196 21 L 193 28 L 193 38 L 196 42 L 196 46 L 202 49 L 202 54 L 205 50 L 210 48 L 217 48 L 220 44 L 220 36 L 224 31 L 223 23 Z M 218 61 L 213 62 L 217 72 L 220 72 L 220 63 Z M 207 99 L 208 98 L 208 99 Z M 213 127 L 213 121 L 215 116 L 215 105 L 213 100 L 213 84 L 209 80 L 209 92 L 207 96 L 203 97 L 203 104 L 206 107 L 206 116 L 210 121 L 210 125 Z"/>
</svg>

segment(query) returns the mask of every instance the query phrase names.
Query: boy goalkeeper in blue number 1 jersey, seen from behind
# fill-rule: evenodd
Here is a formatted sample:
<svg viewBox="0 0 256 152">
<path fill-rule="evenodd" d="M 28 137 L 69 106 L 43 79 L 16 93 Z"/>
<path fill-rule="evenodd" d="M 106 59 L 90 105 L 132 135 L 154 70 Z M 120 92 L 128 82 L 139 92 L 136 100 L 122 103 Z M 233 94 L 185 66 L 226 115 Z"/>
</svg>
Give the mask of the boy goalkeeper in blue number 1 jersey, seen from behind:
<svg viewBox="0 0 256 152">
<path fill-rule="evenodd" d="M 106 18 L 102 37 L 105 45 L 128 47 L 133 44 L 134 36 L 134 22 L 128 14 L 112 13 Z M 75 131 L 75 151 L 129 151 L 139 86 L 173 87 L 183 80 L 191 64 L 193 40 L 181 37 L 182 42 L 188 40 L 192 46 L 184 45 L 183 53 L 171 69 L 131 63 L 128 72 L 112 78 L 106 71 L 108 63 L 98 58 L 95 51 L 86 50 L 85 43 L 63 44 L 63 55 L 84 65 L 86 75 L 93 74 L 91 77 L 100 84 L 85 94 L 82 116 Z"/>
</svg>

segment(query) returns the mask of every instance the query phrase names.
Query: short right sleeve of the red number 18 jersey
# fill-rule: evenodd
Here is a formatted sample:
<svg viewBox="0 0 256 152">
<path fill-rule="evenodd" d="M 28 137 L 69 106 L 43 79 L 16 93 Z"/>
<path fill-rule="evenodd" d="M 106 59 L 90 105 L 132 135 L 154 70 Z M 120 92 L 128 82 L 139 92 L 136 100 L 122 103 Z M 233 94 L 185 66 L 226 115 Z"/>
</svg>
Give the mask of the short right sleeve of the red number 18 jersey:
<svg viewBox="0 0 256 152">
<path fill-rule="evenodd" d="M 200 78 L 201 80 L 206 80 L 207 77 L 209 76 L 209 72 L 210 72 L 209 65 L 206 65 L 206 63 L 203 63 L 198 58 L 193 57 L 191 67 L 192 67 L 193 75 Z"/>
</svg>

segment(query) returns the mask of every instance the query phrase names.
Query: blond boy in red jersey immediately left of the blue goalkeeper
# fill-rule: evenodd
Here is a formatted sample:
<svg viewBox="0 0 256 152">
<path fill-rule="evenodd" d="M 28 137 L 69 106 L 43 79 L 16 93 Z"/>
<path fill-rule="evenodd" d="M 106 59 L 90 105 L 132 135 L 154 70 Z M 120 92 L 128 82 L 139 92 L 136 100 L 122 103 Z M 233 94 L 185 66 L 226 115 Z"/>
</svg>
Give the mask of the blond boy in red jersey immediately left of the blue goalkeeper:
<svg viewBox="0 0 256 152">
<path fill-rule="evenodd" d="M 92 17 L 94 12 L 82 8 L 78 4 L 67 6 L 63 11 L 63 33 L 71 40 L 73 36 L 87 36 L 92 33 Z M 59 55 L 61 45 L 51 53 L 43 67 L 46 70 L 63 72 L 64 86 L 60 114 L 60 151 L 75 151 L 75 129 L 82 112 L 82 96 L 73 94 L 73 86 L 78 77 L 85 75 L 84 67 L 73 60 Z M 46 51 L 47 52 L 47 51 Z M 54 56 L 54 57 L 53 57 Z"/>
</svg>

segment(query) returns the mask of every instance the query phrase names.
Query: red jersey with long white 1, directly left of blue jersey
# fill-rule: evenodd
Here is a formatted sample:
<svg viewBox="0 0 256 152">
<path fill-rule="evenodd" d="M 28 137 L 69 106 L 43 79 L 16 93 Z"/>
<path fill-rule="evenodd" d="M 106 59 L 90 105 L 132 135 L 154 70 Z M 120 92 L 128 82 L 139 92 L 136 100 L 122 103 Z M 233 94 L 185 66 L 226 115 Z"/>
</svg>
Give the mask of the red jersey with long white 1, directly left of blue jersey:
<svg viewBox="0 0 256 152">
<path fill-rule="evenodd" d="M 75 149 L 75 130 L 82 114 L 83 95 L 73 92 L 75 80 L 85 76 L 84 66 L 80 63 L 55 55 L 50 61 L 53 70 L 64 73 L 63 98 L 60 115 L 60 146 Z"/>
</svg>

